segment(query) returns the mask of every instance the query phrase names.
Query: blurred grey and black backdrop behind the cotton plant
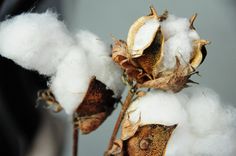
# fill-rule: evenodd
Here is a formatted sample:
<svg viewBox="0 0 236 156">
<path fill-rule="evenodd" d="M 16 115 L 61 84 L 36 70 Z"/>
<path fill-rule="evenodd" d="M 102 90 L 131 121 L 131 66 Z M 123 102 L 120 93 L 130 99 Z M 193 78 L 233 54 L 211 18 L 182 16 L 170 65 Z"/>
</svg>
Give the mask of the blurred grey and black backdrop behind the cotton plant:
<svg viewBox="0 0 236 156">
<path fill-rule="evenodd" d="M 111 34 L 126 39 L 130 25 L 149 13 L 168 10 L 181 17 L 198 13 L 195 27 L 212 43 L 194 80 L 214 89 L 224 104 L 236 107 L 236 1 L 235 0 L 0 0 L 1 21 L 22 12 L 58 12 L 71 32 L 79 29 L 97 34 L 111 44 Z M 0 155 L 69 156 L 71 121 L 35 107 L 37 91 L 47 78 L 0 58 Z M 120 107 L 95 132 L 80 136 L 80 156 L 101 156 L 107 147 Z M 4 154 L 5 153 L 5 154 Z"/>
</svg>

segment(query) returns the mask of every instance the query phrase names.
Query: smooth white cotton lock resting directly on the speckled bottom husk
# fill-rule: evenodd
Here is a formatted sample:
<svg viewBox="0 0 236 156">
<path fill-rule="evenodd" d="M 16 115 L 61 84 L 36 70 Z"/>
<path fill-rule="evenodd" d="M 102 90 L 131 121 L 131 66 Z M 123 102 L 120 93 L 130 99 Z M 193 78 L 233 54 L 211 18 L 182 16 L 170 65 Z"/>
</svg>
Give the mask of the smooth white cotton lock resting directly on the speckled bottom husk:
<svg viewBox="0 0 236 156">
<path fill-rule="evenodd" d="M 141 118 L 141 125 L 174 125 L 186 120 L 186 112 L 173 93 L 153 91 L 136 100 L 128 109 L 130 121 L 136 123 Z M 130 113 L 129 113 L 130 112 Z"/>
</svg>

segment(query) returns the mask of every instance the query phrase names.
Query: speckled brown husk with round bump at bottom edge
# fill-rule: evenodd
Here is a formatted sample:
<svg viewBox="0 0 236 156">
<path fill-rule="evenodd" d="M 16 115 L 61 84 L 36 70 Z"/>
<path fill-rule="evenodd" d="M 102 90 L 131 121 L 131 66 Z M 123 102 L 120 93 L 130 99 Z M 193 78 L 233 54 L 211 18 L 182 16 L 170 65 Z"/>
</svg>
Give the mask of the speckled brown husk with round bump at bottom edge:
<svg viewBox="0 0 236 156">
<path fill-rule="evenodd" d="M 145 125 L 133 137 L 124 142 L 126 156 L 164 156 L 167 143 L 177 127 L 164 125 Z"/>
</svg>

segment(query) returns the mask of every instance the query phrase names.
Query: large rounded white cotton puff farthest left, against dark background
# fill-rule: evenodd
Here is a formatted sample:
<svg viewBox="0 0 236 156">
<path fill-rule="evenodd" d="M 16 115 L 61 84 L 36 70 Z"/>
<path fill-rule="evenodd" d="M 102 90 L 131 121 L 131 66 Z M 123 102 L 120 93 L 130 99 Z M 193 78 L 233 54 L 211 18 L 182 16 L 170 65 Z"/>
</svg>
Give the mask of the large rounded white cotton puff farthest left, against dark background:
<svg viewBox="0 0 236 156">
<path fill-rule="evenodd" d="M 24 13 L 0 25 L 0 54 L 40 74 L 54 74 L 73 44 L 64 23 L 50 11 Z"/>
</svg>

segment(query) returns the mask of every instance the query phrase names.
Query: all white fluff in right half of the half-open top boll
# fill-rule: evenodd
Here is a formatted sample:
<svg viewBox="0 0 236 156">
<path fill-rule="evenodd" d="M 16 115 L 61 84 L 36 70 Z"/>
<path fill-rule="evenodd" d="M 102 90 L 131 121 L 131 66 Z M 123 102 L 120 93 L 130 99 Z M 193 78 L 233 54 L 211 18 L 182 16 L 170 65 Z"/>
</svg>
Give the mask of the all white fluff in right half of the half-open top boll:
<svg viewBox="0 0 236 156">
<path fill-rule="evenodd" d="M 164 69 L 172 69 L 176 64 L 176 56 L 182 65 L 189 63 L 193 52 L 193 41 L 200 39 L 195 30 L 189 28 L 187 18 L 179 18 L 169 15 L 161 23 L 161 30 L 164 34 Z"/>
</svg>

